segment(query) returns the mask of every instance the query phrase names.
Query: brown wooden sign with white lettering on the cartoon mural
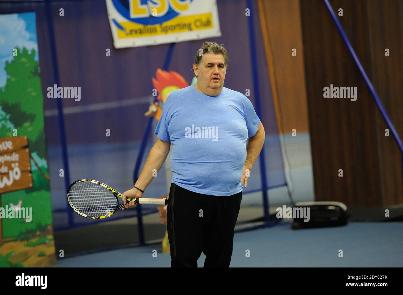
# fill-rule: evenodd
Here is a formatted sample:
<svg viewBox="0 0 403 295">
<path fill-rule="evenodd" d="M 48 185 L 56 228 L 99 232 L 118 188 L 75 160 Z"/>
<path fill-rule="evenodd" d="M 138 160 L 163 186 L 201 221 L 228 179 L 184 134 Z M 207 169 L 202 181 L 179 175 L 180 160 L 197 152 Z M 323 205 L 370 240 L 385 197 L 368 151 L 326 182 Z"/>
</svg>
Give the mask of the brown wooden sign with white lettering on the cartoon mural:
<svg viewBox="0 0 403 295">
<path fill-rule="evenodd" d="M 0 138 L 0 194 L 32 187 L 26 136 Z"/>
</svg>

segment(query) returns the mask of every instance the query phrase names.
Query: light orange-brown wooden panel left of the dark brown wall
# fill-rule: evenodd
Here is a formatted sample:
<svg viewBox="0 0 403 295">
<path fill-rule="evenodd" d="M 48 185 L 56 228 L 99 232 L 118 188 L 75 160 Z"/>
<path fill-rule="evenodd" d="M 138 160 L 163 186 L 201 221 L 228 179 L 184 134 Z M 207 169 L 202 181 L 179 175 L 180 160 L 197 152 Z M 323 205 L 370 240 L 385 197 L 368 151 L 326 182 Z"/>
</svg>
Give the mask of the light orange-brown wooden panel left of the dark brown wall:
<svg viewBox="0 0 403 295">
<path fill-rule="evenodd" d="M 258 0 L 258 8 L 279 130 L 308 132 L 299 1 Z"/>
</svg>

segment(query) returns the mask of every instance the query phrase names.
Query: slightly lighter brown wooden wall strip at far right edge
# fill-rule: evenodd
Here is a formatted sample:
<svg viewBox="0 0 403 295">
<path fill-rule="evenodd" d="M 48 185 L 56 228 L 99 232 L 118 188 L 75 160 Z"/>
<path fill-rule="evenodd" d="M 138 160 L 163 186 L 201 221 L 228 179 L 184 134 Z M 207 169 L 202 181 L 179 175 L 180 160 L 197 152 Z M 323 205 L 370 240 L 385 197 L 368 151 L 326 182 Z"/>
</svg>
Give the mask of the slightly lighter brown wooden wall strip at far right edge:
<svg viewBox="0 0 403 295">
<path fill-rule="evenodd" d="M 368 31 L 372 61 L 371 76 L 374 87 L 397 132 L 403 136 L 403 2 L 368 0 Z M 385 49 L 389 56 L 385 56 Z M 401 153 L 380 112 L 378 126 L 379 159 L 381 166 L 382 197 L 384 205 L 403 203 Z"/>
</svg>

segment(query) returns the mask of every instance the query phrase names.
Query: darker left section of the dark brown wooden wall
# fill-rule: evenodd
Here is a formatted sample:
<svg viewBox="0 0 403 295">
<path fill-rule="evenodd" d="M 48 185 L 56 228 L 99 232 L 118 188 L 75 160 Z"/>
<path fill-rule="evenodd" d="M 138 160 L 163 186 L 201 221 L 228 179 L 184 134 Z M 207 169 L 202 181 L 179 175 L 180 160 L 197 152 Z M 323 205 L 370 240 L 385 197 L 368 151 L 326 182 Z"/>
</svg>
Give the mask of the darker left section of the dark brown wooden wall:
<svg viewBox="0 0 403 295">
<path fill-rule="evenodd" d="M 364 68 L 371 70 L 365 54 L 368 34 L 359 33 L 368 25 L 365 10 L 360 8 L 363 1 L 337 2 L 333 7 L 343 8 L 346 31 L 357 32 L 351 40 L 353 47 L 364 57 Z M 316 200 L 380 206 L 375 104 L 324 2 L 300 4 Z M 330 84 L 357 87 L 357 100 L 324 98 L 323 88 Z"/>
</svg>

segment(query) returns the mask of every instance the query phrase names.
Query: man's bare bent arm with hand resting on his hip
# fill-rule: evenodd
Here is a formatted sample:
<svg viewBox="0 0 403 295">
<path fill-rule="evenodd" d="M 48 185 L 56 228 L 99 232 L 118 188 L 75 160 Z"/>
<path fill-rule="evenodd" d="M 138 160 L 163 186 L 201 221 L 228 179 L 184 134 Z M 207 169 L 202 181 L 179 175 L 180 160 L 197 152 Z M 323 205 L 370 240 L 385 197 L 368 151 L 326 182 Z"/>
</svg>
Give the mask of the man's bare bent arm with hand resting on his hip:
<svg viewBox="0 0 403 295">
<path fill-rule="evenodd" d="M 262 122 L 260 122 L 258 131 L 252 137 L 249 137 L 248 144 L 246 146 L 246 161 L 243 164 L 243 172 L 241 183 L 243 186 L 247 186 L 248 177 L 250 176 L 250 172 L 252 170 L 253 164 L 255 164 L 256 159 L 258 158 L 260 151 L 262 150 L 264 139 L 266 134 L 264 133 L 264 127 Z"/>
</svg>

